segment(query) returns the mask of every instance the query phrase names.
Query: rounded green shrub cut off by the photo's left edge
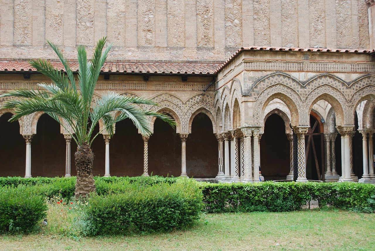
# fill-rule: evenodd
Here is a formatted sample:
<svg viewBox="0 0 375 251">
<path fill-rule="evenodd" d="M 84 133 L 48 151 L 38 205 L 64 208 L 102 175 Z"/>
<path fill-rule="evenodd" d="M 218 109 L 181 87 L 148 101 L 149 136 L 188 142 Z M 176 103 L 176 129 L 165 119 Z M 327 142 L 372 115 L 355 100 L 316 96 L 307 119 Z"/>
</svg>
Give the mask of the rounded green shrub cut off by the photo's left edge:
<svg viewBox="0 0 375 251">
<path fill-rule="evenodd" d="M 0 187 L 0 232 L 29 233 L 46 216 L 45 198 L 33 187 Z"/>
</svg>

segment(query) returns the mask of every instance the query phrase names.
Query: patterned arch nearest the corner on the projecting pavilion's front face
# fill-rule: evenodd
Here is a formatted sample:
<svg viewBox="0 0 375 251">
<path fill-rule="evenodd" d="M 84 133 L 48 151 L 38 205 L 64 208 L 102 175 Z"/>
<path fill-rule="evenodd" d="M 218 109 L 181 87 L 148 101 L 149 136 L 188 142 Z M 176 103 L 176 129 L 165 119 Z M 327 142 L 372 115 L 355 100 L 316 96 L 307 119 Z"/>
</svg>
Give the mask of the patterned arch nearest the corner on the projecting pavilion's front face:
<svg viewBox="0 0 375 251">
<path fill-rule="evenodd" d="M 282 84 L 270 86 L 260 94 L 254 105 L 253 125 L 264 125 L 264 110 L 269 102 L 275 98 L 278 98 L 287 105 L 291 113 L 292 126 L 309 125 L 308 115 L 301 114 L 300 112 L 303 109 L 300 96 L 296 91 Z"/>
</svg>

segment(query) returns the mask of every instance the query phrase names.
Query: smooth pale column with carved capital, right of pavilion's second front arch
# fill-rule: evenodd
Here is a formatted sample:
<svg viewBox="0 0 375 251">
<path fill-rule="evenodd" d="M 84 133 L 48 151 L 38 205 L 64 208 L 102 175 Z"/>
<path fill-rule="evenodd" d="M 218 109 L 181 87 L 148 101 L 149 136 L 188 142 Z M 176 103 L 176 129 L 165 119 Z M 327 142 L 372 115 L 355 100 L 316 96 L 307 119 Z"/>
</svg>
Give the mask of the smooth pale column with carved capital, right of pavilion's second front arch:
<svg viewBox="0 0 375 251">
<path fill-rule="evenodd" d="M 344 152 L 344 157 L 341 157 L 343 161 L 341 166 L 344 166 L 344 168 L 342 168 L 342 181 L 353 181 L 350 175 L 350 134 L 354 126 L 336 126 L 336 128 L 341 134 L 341 153 Z"/>
</svg>

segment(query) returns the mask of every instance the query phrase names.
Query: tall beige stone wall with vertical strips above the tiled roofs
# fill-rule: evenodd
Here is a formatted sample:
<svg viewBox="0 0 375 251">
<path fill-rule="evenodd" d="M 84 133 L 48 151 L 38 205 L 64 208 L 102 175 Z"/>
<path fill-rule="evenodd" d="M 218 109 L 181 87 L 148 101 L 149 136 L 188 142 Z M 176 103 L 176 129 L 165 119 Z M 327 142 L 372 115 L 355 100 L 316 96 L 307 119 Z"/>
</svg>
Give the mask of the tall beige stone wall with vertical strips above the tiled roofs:
<svg viewBox="0 0 375 251">
<path fill-rule="evenodd" d="M 0 55 L 70 58 L 108 36 L 109 58 L 224 60 L 242 46 L 371 49 L 364 0 L 3 0 Z"/>
</svg>

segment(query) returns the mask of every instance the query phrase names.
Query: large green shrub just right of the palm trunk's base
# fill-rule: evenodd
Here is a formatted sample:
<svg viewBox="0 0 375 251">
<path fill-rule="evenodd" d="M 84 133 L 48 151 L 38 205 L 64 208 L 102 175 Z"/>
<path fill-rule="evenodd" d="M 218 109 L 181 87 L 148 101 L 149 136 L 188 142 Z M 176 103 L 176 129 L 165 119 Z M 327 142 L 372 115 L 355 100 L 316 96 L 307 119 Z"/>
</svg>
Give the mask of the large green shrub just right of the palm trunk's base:
<svg viewBox="0 0 375 251">
<path fill-rule="evenodd" d="M 133 186 L 126 192 L 93 194 L 77 222 L 84 235 L 128 232 L 167 232 L 194 224 L 202 210 L 196 181 L 178 179 L 172 184 Z"/>
</svg>

